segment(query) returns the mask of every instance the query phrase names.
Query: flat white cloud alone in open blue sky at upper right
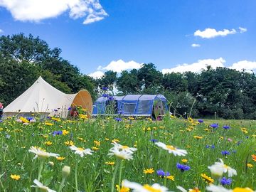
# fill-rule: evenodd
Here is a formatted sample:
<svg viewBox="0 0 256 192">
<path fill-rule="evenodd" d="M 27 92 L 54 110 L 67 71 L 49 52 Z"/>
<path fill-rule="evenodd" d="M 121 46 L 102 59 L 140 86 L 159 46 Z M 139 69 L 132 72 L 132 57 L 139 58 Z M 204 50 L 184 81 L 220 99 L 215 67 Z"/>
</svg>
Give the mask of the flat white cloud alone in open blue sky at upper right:
<svg viewBox="0 0 256 192">
<path fill-rule="evenodd" d="M 215 38 L 218 36 L 228 36 L 231 34 L 235 34 L 237 31 L 233 28 L 232 30 L 223 29 L 223 31 L 216 31 L 215 28 L 206 28 L 204 31 L 196 31 L 194 36 L 199 36 L 201 38 Z"/>
</svg>

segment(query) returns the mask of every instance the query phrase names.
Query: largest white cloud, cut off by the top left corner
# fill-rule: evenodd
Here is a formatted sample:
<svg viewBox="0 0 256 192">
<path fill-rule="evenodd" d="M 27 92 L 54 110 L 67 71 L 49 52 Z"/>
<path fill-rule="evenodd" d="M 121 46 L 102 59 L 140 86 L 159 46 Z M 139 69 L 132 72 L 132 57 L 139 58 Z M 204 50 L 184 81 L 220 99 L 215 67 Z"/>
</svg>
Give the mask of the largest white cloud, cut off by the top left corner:
<svg viewBox="0 0 256 192">
<path fill-rule="evenodd" d="M 99 0 L 0 0 L 18 21 L 41 21 L 69 11 L 70 18 L 85 18 L 84 24 L 100 21 L 107 13 Z"/>
</svg>

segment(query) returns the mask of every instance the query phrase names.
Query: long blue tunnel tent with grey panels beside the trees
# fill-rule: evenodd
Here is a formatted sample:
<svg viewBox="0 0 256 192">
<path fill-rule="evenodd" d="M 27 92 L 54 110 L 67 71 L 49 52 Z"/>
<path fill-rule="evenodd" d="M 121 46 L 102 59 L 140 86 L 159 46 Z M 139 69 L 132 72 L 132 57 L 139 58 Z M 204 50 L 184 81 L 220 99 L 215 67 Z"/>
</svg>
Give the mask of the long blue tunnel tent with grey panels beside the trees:
<svg viewBox="0 0 256 192">
<path fill-rule="evenodd" d="M 164 114 L 167 100 L 164 95 L 124 95 L 99 97 L 93 105 L 92 115 L 122 114 L 124 116 L 152 117 Z"/>
</svg>

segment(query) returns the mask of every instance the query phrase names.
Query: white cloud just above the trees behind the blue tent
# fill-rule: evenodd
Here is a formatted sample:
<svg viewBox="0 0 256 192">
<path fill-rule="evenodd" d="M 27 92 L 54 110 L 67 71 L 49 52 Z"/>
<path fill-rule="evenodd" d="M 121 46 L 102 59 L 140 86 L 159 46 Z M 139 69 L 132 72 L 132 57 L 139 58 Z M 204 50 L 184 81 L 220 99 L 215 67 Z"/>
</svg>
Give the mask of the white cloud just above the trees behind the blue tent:
<svg viewBox="0 0 256 192">
<path fill-rule="evenodd" d="M 137 63 L 134 60 L 124 62 L 124 60 L 113 60 L 106 67 L 99 66 L 97 70 L 113 70 L 114 72 L 121 73 L 122 70 L 139 69 L 142 68 L 142 63 Z"/>
</svg>

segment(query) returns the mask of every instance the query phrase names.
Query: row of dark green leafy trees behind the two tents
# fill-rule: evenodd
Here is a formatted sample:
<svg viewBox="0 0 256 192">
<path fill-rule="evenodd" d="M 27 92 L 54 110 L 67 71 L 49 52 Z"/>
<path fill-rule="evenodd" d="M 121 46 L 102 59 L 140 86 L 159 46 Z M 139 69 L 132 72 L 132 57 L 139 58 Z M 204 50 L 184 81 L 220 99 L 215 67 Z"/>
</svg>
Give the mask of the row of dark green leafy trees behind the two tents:
<svg viewBox="0 0 256 192">
<path fill-rule="evenodd" d="M 166 73 L 147 63 L 140 69 L 109 70 L 102 78 L 92 79 L 68 60 L 60 48 L 23 33 L 0 37 L 0 102 L 8 105 L 41 75 L 50 85 L 65 93 L 87 89 L 93 99 L 102 87 L 114 94 L 162 94 L 176 115 L 225 119 L 256 119 L 256 76 L 245 70 L 210 66 L 201 73 Z M 193 107 L 192 107 L 193 106 Z"/>
</svg>

